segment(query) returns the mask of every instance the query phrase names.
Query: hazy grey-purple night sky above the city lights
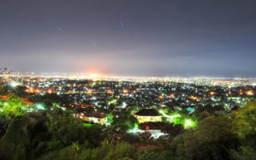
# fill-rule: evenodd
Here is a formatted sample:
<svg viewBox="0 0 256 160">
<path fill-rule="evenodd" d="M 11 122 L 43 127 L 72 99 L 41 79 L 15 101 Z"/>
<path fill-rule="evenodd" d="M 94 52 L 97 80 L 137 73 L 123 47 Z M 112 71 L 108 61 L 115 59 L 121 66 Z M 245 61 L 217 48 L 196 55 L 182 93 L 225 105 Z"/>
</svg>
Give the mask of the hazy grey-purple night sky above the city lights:
<svg viewBox="0 0 256 160">
<path fill-rule="evenodd" d="M 0 0 L 0 66 L 256 77 L 256 1 Z"/>
</svg>

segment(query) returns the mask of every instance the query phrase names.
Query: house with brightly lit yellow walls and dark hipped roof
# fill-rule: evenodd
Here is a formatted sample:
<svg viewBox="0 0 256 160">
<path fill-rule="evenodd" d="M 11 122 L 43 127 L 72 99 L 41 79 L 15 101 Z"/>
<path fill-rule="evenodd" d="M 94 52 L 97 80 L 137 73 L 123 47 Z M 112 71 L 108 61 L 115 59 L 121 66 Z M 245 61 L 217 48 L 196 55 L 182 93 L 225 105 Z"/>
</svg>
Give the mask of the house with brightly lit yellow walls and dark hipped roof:
<svg viewBox="0 0 256 160">
<path fill-rule="evenodd" d="M 154 109 L 142 109 L 134 114 L 139 123 L 142 122 L 162 122 L 162 115 L 158 114 Z"/>
</svg>

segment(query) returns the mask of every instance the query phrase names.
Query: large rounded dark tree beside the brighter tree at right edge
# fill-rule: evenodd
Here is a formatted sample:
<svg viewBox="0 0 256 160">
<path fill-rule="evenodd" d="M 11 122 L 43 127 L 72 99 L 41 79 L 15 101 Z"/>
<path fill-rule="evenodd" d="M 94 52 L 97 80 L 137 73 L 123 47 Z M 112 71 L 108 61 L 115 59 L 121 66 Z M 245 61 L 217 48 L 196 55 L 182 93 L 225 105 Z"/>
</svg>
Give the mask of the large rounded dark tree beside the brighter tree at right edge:
<svg viewBox="0 0 256 160">
<path fill-rule="evenodd" d="M 230 118 L 210 116 L 198 126 L 174 138 L 171 148 L 174 155 L 185 159 L 226 159 L 227 149 L 234 144 Z"/>
</svg>

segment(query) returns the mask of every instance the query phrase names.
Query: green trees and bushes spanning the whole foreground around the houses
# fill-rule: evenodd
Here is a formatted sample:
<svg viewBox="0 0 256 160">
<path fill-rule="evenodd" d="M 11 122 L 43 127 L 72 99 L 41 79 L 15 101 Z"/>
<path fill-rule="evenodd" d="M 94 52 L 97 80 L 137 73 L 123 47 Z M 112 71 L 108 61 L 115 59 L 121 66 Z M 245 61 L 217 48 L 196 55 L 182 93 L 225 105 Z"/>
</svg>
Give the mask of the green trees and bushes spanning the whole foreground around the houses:
<svg viewBox="0 0 256 160">
<path fill-rule="evenodd" d="M 108 114 L 108 122 L 112 122 L 113 128 L 106 129 L 82 123 L 67 111 L 60 110 L 59 102 L 53 104 L 54 110 L 31 112 L 34 107 L 16 96 L 10 96 L 7 101 L 0 100 L 1 126 L 7 123 L 6 118 L 10 122 L 0 140 L 1 159 L 249 160 L 256 157 L 256 102 L 248 102 L 235 111 L 233 117 L 209 114 L 197 125 L 187 121 L 197 118 L 182 116 L 177 119 L 181 125 L 165 130 L 170 133 L 169 141 L 158 141 L 165 149 L 145 151 L 138 151 L 131 145 L 139 142 L 138 136 L 122 134 L 120 141 L 114 140 L 113 135 L 117 133 L 113 128 L 120 134 L 138 124 L 136 118 L 127 112 L 115 117 Z M 171 115 L 166 114 L 166 117 Z M 183 130 L 184 124 L 194 127 Z M 145 144 L 150 144 L 150 141 Z"/>
</svg>

